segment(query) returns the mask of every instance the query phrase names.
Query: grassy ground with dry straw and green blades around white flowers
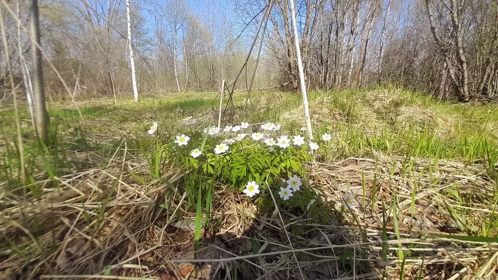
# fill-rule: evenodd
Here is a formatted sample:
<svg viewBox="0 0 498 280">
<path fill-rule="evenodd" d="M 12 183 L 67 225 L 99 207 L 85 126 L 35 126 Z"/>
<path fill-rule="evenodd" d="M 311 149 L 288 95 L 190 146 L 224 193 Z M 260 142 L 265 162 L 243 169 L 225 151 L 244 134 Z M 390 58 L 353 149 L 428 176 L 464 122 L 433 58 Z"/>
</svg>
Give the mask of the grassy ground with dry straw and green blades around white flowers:
<svg viewBox="0 0 498 280">
<path fill-rule="evenodd" d="M 241 116 L 244 101 L 234 97 L 223 125 L 242 117 L 302 133 L 299 95 L 258 93 Z M 13 110 L 0 109 L 0 279 L 183 279 L 194 263 L 205 279 L 497 277 L 496 106 L 398 88 L 310 93 L 315 138 L 333 135 L 307 163 L 320 201 L 280 209 L 282 225 L 275 209 L 220 186 L 195 261 L 195 209 L 167 159 L 160 178 L 149 176 L 146 131 L 157 121 L 169 139 L 189 115 L 197 128 L 216 124 L 217 94 L 116 103 L 78 101 L 84 122 L 73 105 L 50 104 L 50 148 L 36 144 L 22 110 L 26 183 Z"/>
</svg>

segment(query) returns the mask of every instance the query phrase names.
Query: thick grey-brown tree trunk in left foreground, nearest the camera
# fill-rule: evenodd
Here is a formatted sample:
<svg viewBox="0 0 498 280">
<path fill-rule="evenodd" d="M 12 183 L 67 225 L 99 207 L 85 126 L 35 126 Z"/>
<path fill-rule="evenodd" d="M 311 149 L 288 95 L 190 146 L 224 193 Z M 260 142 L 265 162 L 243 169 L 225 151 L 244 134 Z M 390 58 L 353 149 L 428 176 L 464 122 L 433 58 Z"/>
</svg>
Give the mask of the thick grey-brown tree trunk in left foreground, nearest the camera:
<svg viewBox="0 0 498 280">
<path fill-rule="evenodd" d="M 45 85 L 43 83 L 43 61 L 41 56 L 40 20 L 38 0 L 31 0 L 29 14 L 31 16 L 31 55 L 33 58 L 33 97 L 35 112 L 35 128 L 38 139 L 48 145 L 48 113 L 45 105 Z"/>
</svg>

